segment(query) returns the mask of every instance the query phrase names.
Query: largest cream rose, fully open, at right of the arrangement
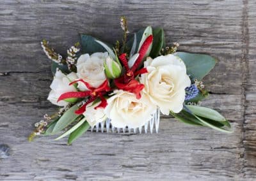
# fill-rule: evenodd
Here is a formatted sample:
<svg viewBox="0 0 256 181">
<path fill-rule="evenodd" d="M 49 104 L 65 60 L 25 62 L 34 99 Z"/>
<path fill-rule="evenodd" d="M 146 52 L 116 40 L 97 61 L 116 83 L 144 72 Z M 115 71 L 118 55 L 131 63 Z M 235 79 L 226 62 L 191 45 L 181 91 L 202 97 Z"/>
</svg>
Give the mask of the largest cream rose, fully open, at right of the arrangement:
<svg viewBox="0 0 256 181">
<path fill-rule="evenodd" d="M 170 110 L 180 112 L 185 100 L 185 88 L 191 84 L 184 62 L 169 54 L 156 59 L 148 57 L 144 66 L 148 73 L 140 78 L 145 85 L 143 92 L 148 94 L 154 105 L 159 106 L 164 115 L 169 115 Z"/>
</svg>

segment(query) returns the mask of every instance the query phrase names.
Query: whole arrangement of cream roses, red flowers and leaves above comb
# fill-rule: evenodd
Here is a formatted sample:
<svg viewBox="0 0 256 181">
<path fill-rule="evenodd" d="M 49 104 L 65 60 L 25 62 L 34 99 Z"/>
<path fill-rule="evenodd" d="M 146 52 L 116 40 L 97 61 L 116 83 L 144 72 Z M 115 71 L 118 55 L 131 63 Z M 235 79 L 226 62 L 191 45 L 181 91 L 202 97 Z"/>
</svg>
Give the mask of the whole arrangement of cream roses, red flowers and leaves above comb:
<svg viewBox="0 0 256 181">
<path fill-rule="evenodd" d="M 38 134 L 62 132 L 56 139 L 68 136 L 70 144 L 106 120 L 111 127 L 141 132 L 159 111 L 186 124 L 231 133 L 225 117 L 200 106 L 208 96 L 202 78 L 214 68 L 216 59 L 177 52 L 179 43 L 166 47 L 161 28 L 148 26 L 127 40 L 127 20 L 120 20 L 124 38 L 115 46 L 81 34 L 81 43 L 69 48 L 63 58 L 48 41 L 42 41 L 54 75 L 48 100 L 60 110 L 52 116 L 45 114 L 29 140 Z"/>
</svg>

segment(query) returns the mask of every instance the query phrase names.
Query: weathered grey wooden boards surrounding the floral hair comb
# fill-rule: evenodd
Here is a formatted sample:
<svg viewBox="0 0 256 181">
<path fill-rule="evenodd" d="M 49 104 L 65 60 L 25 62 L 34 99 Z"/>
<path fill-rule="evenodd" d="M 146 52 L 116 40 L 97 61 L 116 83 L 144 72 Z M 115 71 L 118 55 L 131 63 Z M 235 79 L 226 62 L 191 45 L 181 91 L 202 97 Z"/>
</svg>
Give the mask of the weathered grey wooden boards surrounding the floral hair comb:
<svg viewBox="0 0 256 181">
<path fill-rule="evenodd" d="M 0 180 L 255 180 L 256 3 L 227 1 L 0 1 Z M 204 79 L 204 102 L 232 122 L 233 134 L 186 126 L 168 117 L 159 134 L 87 133 L 26 140 L 33 123 L 54 112 L 46 101 L 52 80 L 40 40 L 60 52 L 93 34 L 113 43 L 130 31 L 164 27 L 168 43 L 218 57 Z"/>
</svg>

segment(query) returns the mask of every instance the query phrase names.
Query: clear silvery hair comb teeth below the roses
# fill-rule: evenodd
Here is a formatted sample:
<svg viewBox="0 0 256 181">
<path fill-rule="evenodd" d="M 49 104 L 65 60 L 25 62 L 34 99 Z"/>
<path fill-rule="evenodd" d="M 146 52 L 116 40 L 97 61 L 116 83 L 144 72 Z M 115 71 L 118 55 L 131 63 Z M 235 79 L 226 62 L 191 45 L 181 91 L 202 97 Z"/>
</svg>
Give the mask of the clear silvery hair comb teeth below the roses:
<svg viewBox="0 0 256 181">
<path fill-rule="evenodd" d="M 160 122 L 160 110 L 156 109 L 156 112 L 152 113 L 150 119 L 141 127 L 113 127 L 111 125 L 111 119 L 107 118 L 103 122 L 98 122 L 95 126 L 90 127 L 92 132 L 101 133 L 158 133 Z"/>
</svg>

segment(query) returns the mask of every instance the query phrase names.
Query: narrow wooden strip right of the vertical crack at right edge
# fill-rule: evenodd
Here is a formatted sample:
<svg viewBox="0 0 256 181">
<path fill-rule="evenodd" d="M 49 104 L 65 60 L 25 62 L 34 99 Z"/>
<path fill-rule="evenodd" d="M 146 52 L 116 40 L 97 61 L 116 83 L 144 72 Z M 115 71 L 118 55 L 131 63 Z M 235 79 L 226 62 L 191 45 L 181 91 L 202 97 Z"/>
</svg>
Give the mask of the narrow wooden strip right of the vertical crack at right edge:
<svg viewBox="0 0 256 181">
<path fill-rule="evenodd" d="M 244 168 L 245 178 L 256 179 L 256 6 L 253 1 L 244 1 L 243 13 L 243 45 L 244 45 L 244 122 L 243 122 L 243 147 L 244 151 Z"/>
</svg>

